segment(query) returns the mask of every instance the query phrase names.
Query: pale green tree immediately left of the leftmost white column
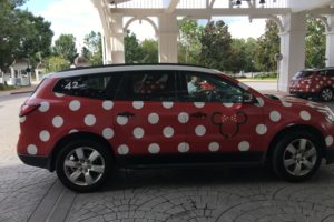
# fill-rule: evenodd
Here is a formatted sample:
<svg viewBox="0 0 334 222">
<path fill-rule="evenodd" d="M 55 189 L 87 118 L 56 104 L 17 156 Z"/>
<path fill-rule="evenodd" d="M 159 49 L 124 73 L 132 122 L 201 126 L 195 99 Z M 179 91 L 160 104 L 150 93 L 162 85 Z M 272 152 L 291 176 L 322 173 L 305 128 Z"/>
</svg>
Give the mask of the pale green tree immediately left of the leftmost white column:
<svg viewBox="0 0 334 222">
<path fill-rule="evenodd" d="M 82 56 L 88 59 L 92 65 L 102 64 L 102 38 L 100 32 L 91 31 L 85 36 L 85 47 L 81 50 Z"/>
</svg>

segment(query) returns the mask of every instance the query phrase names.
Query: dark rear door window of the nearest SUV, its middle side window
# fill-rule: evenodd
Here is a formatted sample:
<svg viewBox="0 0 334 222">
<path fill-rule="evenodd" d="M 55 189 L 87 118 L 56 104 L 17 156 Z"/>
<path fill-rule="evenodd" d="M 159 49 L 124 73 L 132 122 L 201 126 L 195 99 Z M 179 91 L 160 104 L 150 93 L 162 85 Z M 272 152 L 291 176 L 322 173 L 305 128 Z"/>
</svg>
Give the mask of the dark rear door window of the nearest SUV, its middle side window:
<svg viewBox="0 0 334 222">
<path fill-rule="evenodd" d="M 128 72 L 117 99 L 139 101 L 174 101 L 175 73 L 169 71 Z"/>
</svg>

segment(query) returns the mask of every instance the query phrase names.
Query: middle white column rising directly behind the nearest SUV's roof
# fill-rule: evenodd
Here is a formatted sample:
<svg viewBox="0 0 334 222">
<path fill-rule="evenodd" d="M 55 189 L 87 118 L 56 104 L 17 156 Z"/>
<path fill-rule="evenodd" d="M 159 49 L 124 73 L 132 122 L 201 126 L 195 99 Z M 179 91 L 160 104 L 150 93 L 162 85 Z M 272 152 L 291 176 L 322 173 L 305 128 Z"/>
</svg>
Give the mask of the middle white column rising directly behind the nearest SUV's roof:
<svg viewBox="0 0 334 222">
<path fill-rule="evenodd" d="M 177 63 L 178 26 L 175 14 L 159 17 L 159 62 Z"/>
</svg>

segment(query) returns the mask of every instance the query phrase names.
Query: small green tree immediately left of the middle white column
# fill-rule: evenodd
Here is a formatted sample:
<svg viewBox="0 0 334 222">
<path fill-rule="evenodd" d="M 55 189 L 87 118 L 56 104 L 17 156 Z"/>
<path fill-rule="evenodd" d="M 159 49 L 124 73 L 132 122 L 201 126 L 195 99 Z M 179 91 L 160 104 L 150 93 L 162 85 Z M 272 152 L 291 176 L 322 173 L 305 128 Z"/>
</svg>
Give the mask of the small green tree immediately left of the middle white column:
<svg viewBox="0 0 334 222">
<path fill-rule="evenodd" d="M 140 43 L 143 59 L 141 63 L 158 63 L 158 42 L 153 39 L 146 39 Z"/>
</svg>

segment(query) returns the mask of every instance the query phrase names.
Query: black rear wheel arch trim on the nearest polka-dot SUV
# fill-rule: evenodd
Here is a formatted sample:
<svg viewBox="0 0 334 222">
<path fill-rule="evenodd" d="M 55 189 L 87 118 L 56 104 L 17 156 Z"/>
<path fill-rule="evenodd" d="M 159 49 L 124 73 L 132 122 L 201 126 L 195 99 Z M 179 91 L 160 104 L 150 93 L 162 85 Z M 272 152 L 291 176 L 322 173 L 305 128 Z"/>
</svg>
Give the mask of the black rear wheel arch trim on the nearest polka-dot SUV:
<svg viewBox="0 0 334 222">
<path fill-rule="evenodd" d="M 68 142 L 73 141 L 73 140 L 94 140 L 94 141 L 98 141 L 102 144 L 105 144 L 107 148 L 109 148 L 110 154 L 112 157 L 115 157 L 115 152 L 112 147 L 110 145 L 110 143 L 102 138 L 101 135 L 98 135 L 96 133 L 92 132 L 75 132 L 75 133 L 70 133 L 65 135 L 63 138 L 61 138 L 56 145 L 52 149 L 51 154 L 49 155 L 49 171 L 55 171 L 56 169 L 56 160 L 57 160 L 57 155 L 60 152 L 60 150 L 63 148 L 63 145 L 66 145 Z"/>
</svg>

